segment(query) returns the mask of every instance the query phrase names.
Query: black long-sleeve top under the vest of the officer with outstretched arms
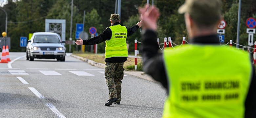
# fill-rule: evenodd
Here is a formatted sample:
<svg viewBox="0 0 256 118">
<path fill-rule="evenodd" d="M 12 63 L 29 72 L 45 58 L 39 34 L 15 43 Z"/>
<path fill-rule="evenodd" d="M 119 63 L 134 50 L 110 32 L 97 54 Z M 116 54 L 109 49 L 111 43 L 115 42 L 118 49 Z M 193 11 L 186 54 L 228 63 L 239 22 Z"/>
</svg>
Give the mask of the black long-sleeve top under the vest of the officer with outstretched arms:
<svg viewBox="0 0 256 118">
<path fill-rule="evenodd" d="M 114 25 L 120 25 L 119 22 L 114 23 L 112 26 Z M 126 27 L 127 28 L 127 27 Z M 134 32 L 136 32 L 139 29 L 138 25 L 135 25 L 131 28 L 127 28 L 127 37 L 131 36 Z M 103 41 L 106 40 L 110 40 L 112 37 L 112 31 L 110 30 L 110 28 L 106 28 L 101 34 L 99 34 L 96 37 L 93 37 L 91 39 L 88 40 L 83 40 L 83 45 L 95 45 L 95 44 L 99 44 Z M 111 57 L 111 58 L 106 58 L 105 62 L 111 62 L 111 63 L 121 63 L 121 62 L 125 62 L 127 60 L 127 57 Z"/>
</svg>

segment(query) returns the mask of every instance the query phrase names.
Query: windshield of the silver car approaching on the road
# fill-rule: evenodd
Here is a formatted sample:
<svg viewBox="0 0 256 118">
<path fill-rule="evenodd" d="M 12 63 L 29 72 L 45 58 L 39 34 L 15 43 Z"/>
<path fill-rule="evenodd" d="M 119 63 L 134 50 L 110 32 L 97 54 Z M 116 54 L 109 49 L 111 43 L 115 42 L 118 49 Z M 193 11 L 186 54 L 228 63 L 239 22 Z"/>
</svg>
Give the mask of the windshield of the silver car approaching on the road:
<svg viewBox="0 0 256 118">
<path fill-rule="evenodd" d="M 60 43 L 60 41 L 55 35 L 36 35 L 33 43 Z"/>
</svg>

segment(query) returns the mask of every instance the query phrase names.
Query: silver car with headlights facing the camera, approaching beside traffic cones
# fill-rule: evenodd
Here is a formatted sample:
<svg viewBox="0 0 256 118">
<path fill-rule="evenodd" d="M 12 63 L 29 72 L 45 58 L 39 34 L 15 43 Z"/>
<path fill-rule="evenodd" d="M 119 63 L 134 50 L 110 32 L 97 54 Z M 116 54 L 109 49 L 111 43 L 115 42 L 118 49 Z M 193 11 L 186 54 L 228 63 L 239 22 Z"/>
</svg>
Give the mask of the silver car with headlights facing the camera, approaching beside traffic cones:
<svg viewBox="0 0 256 118">
<path fill-rule="evenodd" d="M 65 41 L 61 41 L 57 33 L 33 33 L 26 49 L 27 60 L 33 61 L 34 58 L 39 58 L 65 61 L 66 48 L 62 43 Z"/>
</svg>

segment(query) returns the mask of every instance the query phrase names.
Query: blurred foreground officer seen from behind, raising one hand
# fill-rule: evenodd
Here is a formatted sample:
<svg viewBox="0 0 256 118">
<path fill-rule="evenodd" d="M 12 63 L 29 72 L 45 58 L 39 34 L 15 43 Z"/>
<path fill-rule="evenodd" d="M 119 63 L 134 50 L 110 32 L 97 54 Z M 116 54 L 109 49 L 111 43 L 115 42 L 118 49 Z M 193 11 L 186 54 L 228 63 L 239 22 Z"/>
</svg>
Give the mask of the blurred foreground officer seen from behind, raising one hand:
<svg viewBox="0 0 256 118">
<path fill-rule="evenodd" d="M 221 0 L 185 0 L 190 44 L 164 49 L 157 44 L 155 7 L 140 8 L 143 67 L 160 81 L 168 96 L 163 118 L 256 118 L 255 71 L 249 54 L 219 45 Z"/>
</svg>

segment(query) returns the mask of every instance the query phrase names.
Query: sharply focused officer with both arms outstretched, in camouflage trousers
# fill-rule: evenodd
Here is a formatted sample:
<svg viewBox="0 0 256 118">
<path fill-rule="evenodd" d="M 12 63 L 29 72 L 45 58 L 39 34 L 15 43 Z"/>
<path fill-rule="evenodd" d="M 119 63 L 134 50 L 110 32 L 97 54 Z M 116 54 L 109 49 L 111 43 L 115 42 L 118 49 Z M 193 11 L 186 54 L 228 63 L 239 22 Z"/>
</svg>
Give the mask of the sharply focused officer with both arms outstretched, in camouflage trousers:
<svg viewBox="0 0 256 118">
<path fill-rule="evenodd" d="M 75 41 L 77 45 L 95 45 L 103 41 L 106 42 L 105 48 L 105 78 L 109 89 L 109 99 L 105 106 L 112 103 L 120 104 L 121 101 L 121 84 L 123 79 L 123 63 L 127 60 L 128 52 L 126 47 L 126 38 L 132 35 L 141 27 L 141 22 L 137 25 L 127 28 L 120 25 L 120 15 L 110 15 L 111 26 L 106 28 L 99 36 L 89 40 Z"/>
</svg>

